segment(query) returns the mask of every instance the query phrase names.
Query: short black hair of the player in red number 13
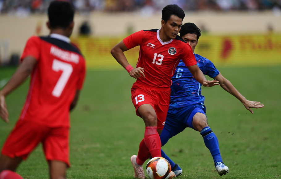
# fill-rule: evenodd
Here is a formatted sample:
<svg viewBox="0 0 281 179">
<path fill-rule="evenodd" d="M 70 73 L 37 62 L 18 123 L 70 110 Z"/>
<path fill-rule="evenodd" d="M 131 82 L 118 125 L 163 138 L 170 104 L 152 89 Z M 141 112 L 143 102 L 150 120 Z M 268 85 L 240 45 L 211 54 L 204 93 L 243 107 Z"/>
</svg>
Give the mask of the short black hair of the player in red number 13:
<svg viewBox="0 0 281 179">
<path fill-rule="evenodd" d="M 180 8 L 176 4 L 170 4 L 170 5 L 167 5 L 166 7 L 163 8 L 163 10 L 162 10 L 162 20 L 167 22 L 170 19 L 171 15 L 176 15 L 179 18 L 182 18 L 182 20 L 185 16 L 182 8 Z"/>
</svg>

